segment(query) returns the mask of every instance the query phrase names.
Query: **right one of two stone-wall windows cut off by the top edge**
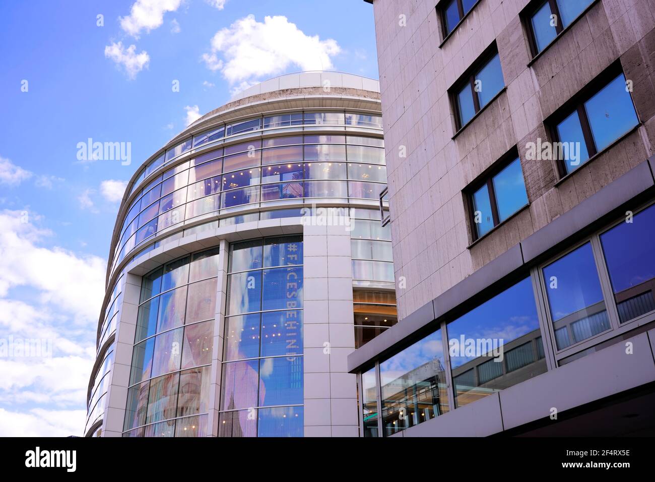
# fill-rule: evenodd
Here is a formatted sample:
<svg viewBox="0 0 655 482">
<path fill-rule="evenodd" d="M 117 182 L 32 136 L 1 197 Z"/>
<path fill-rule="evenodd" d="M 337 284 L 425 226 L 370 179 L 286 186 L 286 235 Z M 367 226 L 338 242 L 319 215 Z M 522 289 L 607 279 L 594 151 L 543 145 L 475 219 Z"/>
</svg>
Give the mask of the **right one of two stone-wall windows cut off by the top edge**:
<svg viewBox="0 0 655 482">
<path fill-rule="evenodd" d="M 593 0 L 546 0 L 526 15 L 533 56 L 544 50 Z"/>
</svg>

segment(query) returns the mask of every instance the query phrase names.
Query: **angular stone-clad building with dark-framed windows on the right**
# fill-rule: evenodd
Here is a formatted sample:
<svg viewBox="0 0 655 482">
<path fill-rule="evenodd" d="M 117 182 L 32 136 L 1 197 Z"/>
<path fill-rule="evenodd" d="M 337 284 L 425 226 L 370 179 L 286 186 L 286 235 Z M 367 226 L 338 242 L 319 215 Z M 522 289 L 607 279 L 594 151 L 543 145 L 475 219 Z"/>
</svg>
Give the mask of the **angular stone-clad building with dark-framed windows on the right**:
<svg viewBox="0 0 655 482">
<path fill-rule="evenodd" d="M 367 1 L 399 321 L 348 355 L 361 435 L 654 435 L 652 5 Z"/>
</svg>

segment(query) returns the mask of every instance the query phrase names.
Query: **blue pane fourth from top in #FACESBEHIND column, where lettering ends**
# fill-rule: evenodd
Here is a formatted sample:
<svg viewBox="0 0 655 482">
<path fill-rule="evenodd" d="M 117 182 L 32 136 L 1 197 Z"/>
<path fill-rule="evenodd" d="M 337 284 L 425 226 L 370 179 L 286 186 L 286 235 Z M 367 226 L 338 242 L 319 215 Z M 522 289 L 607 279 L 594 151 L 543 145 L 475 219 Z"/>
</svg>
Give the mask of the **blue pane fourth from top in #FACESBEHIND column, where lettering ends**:
<svg viewBox="0 0 655 482">
<path fill-rule="evenodd" d="M 303 403 L 303 357 L 275 357 L 260 360 L 259 406 Z"/>
</svg>

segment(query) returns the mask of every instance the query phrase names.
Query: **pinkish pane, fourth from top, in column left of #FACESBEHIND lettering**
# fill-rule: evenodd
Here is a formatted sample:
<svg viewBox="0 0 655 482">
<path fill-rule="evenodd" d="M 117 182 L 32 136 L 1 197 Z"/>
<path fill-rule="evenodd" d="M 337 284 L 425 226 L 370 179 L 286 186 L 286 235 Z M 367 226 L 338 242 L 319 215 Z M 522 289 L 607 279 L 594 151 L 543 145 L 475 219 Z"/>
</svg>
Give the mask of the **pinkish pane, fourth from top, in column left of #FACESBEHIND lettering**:
<svg viewBox="0 0 655 482">
<path fill-rule="evenodd" d="M 257 407 L 259 360 L 223 363 L 221 410 Z"/>
</svg>

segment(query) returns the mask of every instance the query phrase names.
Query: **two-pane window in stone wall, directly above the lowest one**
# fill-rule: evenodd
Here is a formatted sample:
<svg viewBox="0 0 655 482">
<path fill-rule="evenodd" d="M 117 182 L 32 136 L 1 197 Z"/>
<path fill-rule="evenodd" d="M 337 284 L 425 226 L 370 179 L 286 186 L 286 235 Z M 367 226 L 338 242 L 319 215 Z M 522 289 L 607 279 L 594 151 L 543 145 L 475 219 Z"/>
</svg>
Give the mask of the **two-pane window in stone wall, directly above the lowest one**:
<svg viewBox="0 0 655 482">
<path fill-rule="evenodd" d="M 491 54 L 485 53 L 481 60 L 476 60 L 473 68 L 451 89 L 451 98 L 457 107 L 457 130 L 462 129 L 504 87 L 500 57 L 494 45 Z"/>
</svg>

